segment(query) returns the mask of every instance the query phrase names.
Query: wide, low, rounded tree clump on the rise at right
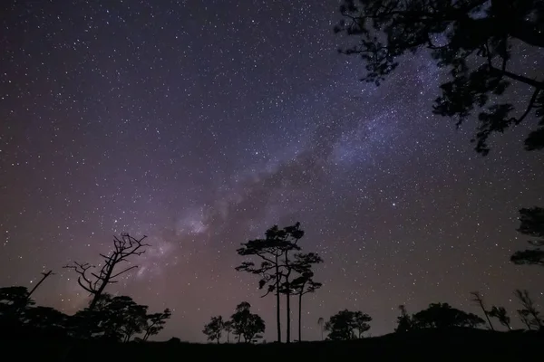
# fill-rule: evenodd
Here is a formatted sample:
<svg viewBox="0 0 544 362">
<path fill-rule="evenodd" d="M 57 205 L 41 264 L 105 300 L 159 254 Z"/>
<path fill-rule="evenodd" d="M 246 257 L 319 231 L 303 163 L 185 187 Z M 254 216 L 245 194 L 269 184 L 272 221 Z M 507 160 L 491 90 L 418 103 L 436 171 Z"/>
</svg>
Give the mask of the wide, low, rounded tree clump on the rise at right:
<svg viewBox="0 0 544 362">
<path fill-rule="evenodd" d="M 429 308 L 413 315 L 413 323 L 418 329 L 447 329 L 476 328 L 485 322 L 475 314 L 452 308 L 448 303 L 431 303 Z"/>
</svg>

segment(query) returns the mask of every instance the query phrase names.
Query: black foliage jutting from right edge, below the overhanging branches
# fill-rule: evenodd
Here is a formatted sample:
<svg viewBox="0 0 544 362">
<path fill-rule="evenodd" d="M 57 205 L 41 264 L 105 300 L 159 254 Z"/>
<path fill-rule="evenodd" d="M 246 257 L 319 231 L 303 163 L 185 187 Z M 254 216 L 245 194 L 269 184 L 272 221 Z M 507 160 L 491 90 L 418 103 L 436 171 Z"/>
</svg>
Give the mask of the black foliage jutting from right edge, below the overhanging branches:
<svg viewBox="0 0 544 362">
<path fill-rule="evenodd" d="M 510 261 L 518 265 L 544 266 L 544 250 L 539 248 L 544 245 L 544 209 L 541 207 L 520 209 L 520 228 L 518 228 L 518 232 L 538 238 L 529 241 L 536 248 L 515 252 L 510 257 Z"/>
</svg>

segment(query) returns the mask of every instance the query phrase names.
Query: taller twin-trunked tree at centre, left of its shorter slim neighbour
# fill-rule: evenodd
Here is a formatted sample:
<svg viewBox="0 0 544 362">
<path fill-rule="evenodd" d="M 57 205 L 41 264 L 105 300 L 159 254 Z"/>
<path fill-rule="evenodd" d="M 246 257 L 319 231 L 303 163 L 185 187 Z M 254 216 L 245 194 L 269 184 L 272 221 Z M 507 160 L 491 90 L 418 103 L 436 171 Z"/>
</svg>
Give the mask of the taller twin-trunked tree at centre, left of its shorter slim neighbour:
<svg viewBox="0 0 544 362">
<path fill-rule="evenodd" d="M 267 286 L 267 293 L 276 294 L 276 320 L 277 341 L 281 342 L 281 315 L 280 294 L 282 288 L 287 289 L 287 342 L 290 340 L 290 298 L 289 276 L 292 268 L 289 264 L 288 252 L 300 250 L 296 242 L 304 235 L 300 230 L 300 223 L 279 229 L 277 225 L 269 228 L 265 233 L 265 239 L 250 240 L 242 243 L 242 248 L 237 250 L 242 256 L 257 256 L 261 259 L 260 265 L 254 262 L 242 262 L 237 271 L 247 271 L 258 275 L 259 289 Z M 263 297 L 264 297 L 263 296 Z"/>
</svg>

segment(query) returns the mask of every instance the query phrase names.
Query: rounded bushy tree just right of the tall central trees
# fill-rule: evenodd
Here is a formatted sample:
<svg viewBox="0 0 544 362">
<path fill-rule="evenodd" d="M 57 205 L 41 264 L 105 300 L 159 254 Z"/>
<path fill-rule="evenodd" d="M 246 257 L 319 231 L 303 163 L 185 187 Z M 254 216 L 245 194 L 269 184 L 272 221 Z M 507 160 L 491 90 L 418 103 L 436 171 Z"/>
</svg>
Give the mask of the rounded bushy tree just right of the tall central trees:
<svg viewBox="0 0 544 362">
<path fill-rule="evenodd" d="M 355 330 L 358 338 L 363 338 L 363 333 L 370 329 L 370 321 L 372 317 L 361 311 L 340 310 L 325 323 L 325 330 L 329 332 L 327 339 L 355 339 Z"/>
</svg>

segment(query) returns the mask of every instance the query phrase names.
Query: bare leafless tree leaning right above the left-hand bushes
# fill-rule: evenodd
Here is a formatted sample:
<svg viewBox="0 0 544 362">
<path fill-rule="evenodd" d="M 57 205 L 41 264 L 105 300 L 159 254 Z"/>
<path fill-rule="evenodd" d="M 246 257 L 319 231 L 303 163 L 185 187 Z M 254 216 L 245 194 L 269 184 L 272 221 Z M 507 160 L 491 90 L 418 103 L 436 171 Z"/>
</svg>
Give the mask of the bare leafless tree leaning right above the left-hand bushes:
<svg viewBox="0 0 544 362">
<path fill-rule="evenodd" d="M 144 235 L 141 239 L 136 239 L 128 233 L 122 233 L 121 239 L 114 236 L 113 251 L 109 255 L 100 254 L 103 258 L 103 264 L 99 271 L 92 271 L 94 267 L 87 262 L 72 262 L 64 266 L 64 268 L 73 269 L 73 271 L 78 273 L 78 284 L 83 290 L 91 293 L 92 301 L 89 305 L 90 310 L 93 310 L 98 300 L 101 299 L 108 284 L 116 283 L 116 278 L 121 274 L 138 268 L 137 265 L 133 265 L 122 271 L 115 271 L 115 267 L 121 262 L 128 262 L 131 256 L 140 256 L 145 252 L 143 248 L 149 245 L 142 242 L 146 237 Z"/>
</svg>

